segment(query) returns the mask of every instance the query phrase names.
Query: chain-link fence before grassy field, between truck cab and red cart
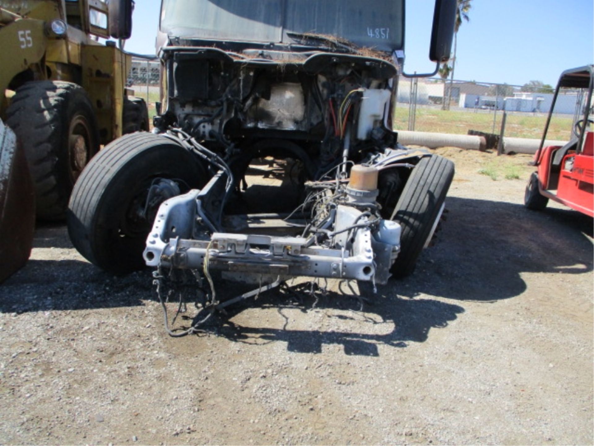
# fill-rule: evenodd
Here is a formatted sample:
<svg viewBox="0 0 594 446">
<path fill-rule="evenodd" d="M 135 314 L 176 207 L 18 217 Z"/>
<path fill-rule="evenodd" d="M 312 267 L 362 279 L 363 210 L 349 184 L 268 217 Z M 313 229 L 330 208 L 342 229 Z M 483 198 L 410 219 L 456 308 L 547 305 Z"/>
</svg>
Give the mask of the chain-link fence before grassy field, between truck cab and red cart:
<svg viewBox="0 0 594 446">
<path fill-rule="evenodd" d="M 530 91 L 510 84 L 400 77 L 394 127 L 492 134 L 492 145 L 499 136 L 541 139 L 553 96 L 554 90 L 548 88 Z M 581 90 L 561 89 L 547 139 L 570 139 L 574 124 L 583 114 L 585 100 Z"/>
</svg>

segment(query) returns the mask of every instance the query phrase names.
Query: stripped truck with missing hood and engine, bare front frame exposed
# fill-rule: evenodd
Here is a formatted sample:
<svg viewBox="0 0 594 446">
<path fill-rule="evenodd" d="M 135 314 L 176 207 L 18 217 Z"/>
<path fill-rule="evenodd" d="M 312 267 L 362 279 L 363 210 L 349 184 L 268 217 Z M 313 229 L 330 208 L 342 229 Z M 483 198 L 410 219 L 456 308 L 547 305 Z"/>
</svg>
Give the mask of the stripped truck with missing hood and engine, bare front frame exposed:
<svg viewBox="0 0 594 446">
<path fill-rule="evenodd" d="M 403 147 L 392 128 L 404 1 L 162 8 L 155 134 L 91 160 L 69 204 L 74 246 L 109 271 L 156 268 L 160 296 L 165 282 L 207 281 L 205 310 L 236 301 L 218 300 L 215 271 L 260 284 L 237 299 L 289 277 L 410 274 L 454 167 Z M 456 0 L 437 1 L 436 70 L 455 14 Z"/>
</svg>

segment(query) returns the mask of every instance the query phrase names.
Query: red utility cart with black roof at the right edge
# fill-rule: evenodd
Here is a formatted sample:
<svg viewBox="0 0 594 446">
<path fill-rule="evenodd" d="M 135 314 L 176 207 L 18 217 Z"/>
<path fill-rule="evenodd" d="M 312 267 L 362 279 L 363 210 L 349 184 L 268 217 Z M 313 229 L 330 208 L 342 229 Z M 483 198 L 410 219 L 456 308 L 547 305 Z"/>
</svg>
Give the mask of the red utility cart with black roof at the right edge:
<svg viewBox="0 0 594 446">
<path fill-rule="evenodd" d="M 593 66 L 587 65 L 566 70 L 559 78 L 541 146 L 534 156 L 538 170 L 530 175 L 526 186 L 524 204 L 529 209 L 544 209 L 551 199 L 594 216 L 593 73 Z M 564 107 L 567 113 L 570 103 L 574 104 L 574 120 L 569 142 L 545 146 L 547 134 L 560 131 L 560 124 L 570 121 L 560 115 Z M 563 140 L 558 136 L 551 139 Z"/>
</svg>

